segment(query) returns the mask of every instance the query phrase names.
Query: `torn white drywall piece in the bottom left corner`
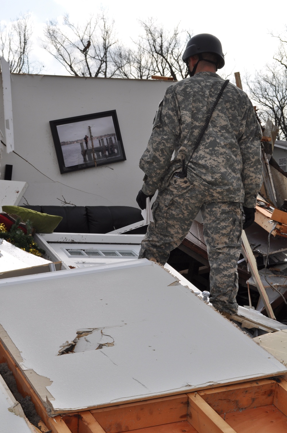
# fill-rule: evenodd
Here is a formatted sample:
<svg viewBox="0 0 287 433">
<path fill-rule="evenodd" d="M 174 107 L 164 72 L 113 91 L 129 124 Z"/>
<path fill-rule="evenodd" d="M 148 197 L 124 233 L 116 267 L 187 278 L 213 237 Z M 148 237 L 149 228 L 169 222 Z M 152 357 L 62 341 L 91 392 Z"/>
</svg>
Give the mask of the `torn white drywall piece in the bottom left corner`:
<svg viewBox="0 0 287 433">
<path fill-rule="evenodd" d="M 36 432 L 24 415 L 22 407 L 15 400 L 0 375 L 0 432 L 31 433 Z"/>
</svg>

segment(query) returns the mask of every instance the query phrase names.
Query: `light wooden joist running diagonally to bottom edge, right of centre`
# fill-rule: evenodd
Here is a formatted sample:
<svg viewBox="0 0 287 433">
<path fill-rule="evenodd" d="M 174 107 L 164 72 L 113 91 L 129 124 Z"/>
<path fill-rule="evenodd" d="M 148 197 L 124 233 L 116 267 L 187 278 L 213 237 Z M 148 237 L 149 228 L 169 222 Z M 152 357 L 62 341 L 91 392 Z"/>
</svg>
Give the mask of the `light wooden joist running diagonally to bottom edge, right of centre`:
<svg viewBox="0 0 287 433">
<path fill-rule="evenodd" d="M 196 392 L 188 394 L 188 421 L 198 433 L 236 433 Z"/>
</svg>

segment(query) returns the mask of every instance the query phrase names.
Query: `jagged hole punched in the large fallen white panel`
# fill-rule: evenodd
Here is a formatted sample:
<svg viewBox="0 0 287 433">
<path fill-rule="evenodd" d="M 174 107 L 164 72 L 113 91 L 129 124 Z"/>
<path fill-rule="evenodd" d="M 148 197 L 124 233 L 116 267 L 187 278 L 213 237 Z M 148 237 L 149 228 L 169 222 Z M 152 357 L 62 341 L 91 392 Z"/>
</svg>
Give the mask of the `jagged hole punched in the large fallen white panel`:
<svg viewBox="0 0 287 433">
<path fill-rule="evenodd" d="M 115 340 L 103 332 L 105 328 L 83 328 L 76 331 L 73 341 L 62 344 L 58 355 L 67 353 L 86 352 L 87 350 L 102 349 L 104 346 L 114 346 Z"/>
</svg>

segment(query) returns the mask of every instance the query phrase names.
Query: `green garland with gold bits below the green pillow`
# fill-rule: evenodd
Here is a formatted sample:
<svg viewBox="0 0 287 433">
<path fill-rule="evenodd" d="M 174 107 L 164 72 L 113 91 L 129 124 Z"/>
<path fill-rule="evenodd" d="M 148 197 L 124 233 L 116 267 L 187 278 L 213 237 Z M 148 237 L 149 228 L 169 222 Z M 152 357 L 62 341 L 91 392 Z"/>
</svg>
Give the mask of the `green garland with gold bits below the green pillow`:
<svg viewBox="0 0 287 433">
<path fill-rule="evenodd" d="M 12 243 L 24 251 L 41 257 L 43 254 L 45 254 L 45 251 L 41 249 L 34 241 L 32 236 L 33 228 L 31 222 L 29 220 L 26 221 L 26 234 L 22 229 L 19 229 L 19 223 L 20 218 L 17 218 L 9 232 L 7 232 L 3 223 L 0 224 L 0 238 L 5 239 L 7 242 Z"/>
</svg>

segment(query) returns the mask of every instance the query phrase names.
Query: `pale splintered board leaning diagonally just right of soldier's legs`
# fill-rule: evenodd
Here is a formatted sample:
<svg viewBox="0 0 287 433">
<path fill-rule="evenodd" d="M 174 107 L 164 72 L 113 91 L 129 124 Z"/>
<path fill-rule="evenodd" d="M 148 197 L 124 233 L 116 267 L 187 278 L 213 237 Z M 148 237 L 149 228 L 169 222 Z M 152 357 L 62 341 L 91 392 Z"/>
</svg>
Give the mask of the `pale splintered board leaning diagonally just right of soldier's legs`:
<svg viewBox="0 0 287 433">
<path fill-rule="evenodd" d="M 276 317 L 273 313 L 271 304 L 269 302 L 268 295 L 267 295 L 266 290 L 262 284 L 261 278 L 258 274 L 256 260 L 255 260 L 255 257 L 253 255 L 252 249 L 249 245 L 249 242 L 248 242 L 248 239 L 247 239 L 247 236 L 246 236 L 246 233 L 244 230 L 242 230 L 242 254 L 243 254 L 244 258 L 246 259 L 246 262 L 248 262 L 249 269 L 250 269 L 252 277 L 255 281 L 258 292 L 260 293 L 260 296 L 262 298 L 262 301 L 263 301 L 263 304 L 265 306 L 268 317 L 276 320 Z"/>
</svg>

